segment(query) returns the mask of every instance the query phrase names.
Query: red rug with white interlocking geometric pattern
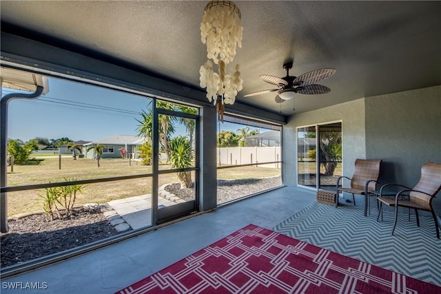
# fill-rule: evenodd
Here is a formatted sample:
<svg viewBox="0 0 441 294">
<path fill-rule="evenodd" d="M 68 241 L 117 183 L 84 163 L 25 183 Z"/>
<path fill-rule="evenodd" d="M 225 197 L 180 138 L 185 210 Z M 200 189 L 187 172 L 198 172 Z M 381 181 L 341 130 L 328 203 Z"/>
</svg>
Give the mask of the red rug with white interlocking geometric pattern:
<svg viewBox="0 0 441 294">
<path fill-rule="evenodd" d="M 118 293 L 441 293 L 441 288 L 249 224 Z"/>
</svg>

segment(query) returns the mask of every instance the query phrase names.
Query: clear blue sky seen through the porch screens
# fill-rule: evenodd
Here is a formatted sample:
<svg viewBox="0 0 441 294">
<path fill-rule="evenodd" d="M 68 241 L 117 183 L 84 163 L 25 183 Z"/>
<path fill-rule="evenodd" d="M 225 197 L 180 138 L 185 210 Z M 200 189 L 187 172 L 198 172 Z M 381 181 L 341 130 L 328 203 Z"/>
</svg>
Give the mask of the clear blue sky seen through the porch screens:
<svg viewBox="0 0 441 294">
<path fill-rule="evenodd" d="M 12 92 L 17 91 L 3 88 L 2 96 Z M 23 142 L 35 137 L 94 141 L 115 135 L 136 136 L 136 119 L 141 120 L 139 113 L 147 112 L 149 102 L 149 98 L 135 94 L 49 78 L 47 94 L 10 101 L 8 138 Z M 218 127 L 235 132 L 244 126 L 225 122 Z"/>
</svg>

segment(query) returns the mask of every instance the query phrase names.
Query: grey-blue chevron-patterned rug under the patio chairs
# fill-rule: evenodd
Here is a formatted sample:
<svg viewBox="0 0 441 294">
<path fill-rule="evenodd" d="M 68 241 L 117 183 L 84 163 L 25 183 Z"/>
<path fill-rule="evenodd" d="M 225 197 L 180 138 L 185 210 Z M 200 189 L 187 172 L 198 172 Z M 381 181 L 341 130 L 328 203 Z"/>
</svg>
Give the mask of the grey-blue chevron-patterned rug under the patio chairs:
<svg viewBox="0 0 441 294">
<path fill-rule="evenodd" d="M 436 238 L 433 218 L 420 216 L 420 227 L 407 211 L 398 214 L 391 235 L 394 213 L 384 211 L 376 221 L 377 210 L 363 216 L 362 204 L 356 207 L 312 203 L 284 220 L 274 231 L 356 258 L 384 269 L 441 286 L 441 241 Z"/>
</svg>

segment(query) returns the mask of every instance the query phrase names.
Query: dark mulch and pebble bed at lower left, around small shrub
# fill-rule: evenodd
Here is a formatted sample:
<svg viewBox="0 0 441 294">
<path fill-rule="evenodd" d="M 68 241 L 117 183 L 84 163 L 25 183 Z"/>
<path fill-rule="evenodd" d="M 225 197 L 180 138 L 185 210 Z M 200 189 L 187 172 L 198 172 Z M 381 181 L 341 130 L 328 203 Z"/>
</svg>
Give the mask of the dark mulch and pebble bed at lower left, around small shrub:
<svg viewBox="0 0 441 294">
<path fill-rule="evenodd" d="M 118 234 L 99 209 L 76 209 L 68 220 L 40 213 L 8 223 L 9 233 L 0 235 L 2 268 Z"/>
</svg>

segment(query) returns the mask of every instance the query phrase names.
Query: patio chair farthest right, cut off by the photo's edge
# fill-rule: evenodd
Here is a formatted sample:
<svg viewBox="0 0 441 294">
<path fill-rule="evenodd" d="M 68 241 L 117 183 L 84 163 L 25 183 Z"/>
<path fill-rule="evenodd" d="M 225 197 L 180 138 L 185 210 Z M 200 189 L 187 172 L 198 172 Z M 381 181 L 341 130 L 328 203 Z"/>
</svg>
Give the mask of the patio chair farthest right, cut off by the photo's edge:
<svg viewBox="0 0 441 294">
<path fill-rule="evenodd" d="M 413 189 L 396 184 L 387 184 L 386 186 L 402 187 L 402 191 L 398 192 L 395 198 L 377 197 L 379 203 L 378 217 L 382 211 L 382 204 L 395 207 L 395 220 L 393 222 L 392 235 L 395 231 L 398 218 L 398 207 L 407 207 L 415 210 L 416 224 L 420 227 L 420 219 L 418 218 L 418 210 L 430 211 L 435 222 L 436 237 L 440 239 L 440 229 L 438 220 L 433 211 L 432 200 L 441 190 L 441 163 L 426 162 L 421 168 L 421 177 L 418 184 Z"/>
</svg>

